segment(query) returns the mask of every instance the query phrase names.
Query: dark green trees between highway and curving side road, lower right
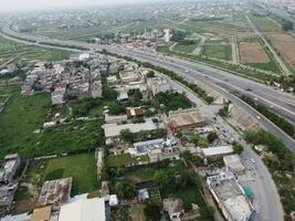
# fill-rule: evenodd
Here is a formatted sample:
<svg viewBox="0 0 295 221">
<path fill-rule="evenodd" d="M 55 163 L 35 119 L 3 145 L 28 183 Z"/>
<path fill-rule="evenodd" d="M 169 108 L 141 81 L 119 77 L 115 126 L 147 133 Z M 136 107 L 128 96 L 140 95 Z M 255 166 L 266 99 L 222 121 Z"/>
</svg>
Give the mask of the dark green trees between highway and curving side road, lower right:
<svg viewBox="0 0 295 221">
<path fill-rule="evenodd" d="M 266 130 L 249 130 L 245 133 L 245 138 L 254 145 L 267 147 L 267 154 L 263 161 L 276 183 L 285 213 L 289 214 L 295 208 L 295 179 L 293 176 L 295 155 L 282 140 Z"/>
</svg>

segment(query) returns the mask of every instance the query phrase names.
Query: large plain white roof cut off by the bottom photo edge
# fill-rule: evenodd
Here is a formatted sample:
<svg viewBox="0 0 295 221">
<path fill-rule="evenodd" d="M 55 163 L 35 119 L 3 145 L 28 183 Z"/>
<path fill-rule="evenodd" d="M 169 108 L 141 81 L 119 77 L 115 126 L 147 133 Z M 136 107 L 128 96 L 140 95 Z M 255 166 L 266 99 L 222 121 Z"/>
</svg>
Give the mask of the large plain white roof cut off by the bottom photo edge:
<svg viewBox="0 0 295 221">
<path fill-rule="evenodd" d="M 64 204 L 59 221 L 105 221 L 106 208 L 103 198 L 82 199 Z"/>
</svg>

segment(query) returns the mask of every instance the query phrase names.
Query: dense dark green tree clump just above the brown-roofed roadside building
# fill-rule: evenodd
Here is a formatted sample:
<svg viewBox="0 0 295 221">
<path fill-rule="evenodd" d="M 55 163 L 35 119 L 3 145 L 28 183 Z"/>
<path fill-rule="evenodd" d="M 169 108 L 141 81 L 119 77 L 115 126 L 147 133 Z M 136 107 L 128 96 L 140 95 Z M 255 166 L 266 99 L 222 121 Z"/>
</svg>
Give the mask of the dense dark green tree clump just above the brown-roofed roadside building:
<svg viewBox="0 0 295 221">
<path fill-rule="evenodd" d="M 191 102 L 183 94 L 172 92 L 160 92 L 154 98 L 156 107 L 164 109 L 165 113 L 177 110 L 179 108 L 186 109 L 192 107 Z"/>
</svg>

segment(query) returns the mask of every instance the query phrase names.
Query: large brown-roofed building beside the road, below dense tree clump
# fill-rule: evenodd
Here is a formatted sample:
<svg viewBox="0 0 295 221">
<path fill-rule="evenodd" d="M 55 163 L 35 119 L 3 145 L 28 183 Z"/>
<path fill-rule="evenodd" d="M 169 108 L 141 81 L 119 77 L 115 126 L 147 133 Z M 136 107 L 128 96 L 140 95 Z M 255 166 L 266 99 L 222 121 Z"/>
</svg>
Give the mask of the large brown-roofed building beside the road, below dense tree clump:
<svg viewBox="0 0 295 221">
<path fill-rule="evenodd" d="M 175 133 L 182 129 L 193 129 L 207 125 L 196 108 L 181 109 L 169 113 L 168 125 Z"/>
</svg>

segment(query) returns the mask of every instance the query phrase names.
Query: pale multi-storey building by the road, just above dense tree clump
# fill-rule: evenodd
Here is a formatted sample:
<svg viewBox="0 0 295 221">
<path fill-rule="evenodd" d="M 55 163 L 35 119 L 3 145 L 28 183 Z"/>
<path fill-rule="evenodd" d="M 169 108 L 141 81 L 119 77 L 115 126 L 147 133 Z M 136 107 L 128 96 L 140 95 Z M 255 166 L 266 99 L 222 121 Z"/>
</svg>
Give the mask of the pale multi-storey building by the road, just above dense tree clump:
<svg viewBox="0 0 295 221">
<path fill-rule="evenodd" d="M 147 86 L 154 96 L 160 92 L 171 91 L 169 82 L 160 76 L 147 78 Z"/>
</svg>

